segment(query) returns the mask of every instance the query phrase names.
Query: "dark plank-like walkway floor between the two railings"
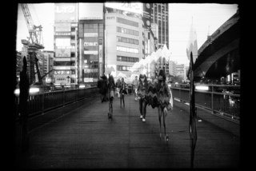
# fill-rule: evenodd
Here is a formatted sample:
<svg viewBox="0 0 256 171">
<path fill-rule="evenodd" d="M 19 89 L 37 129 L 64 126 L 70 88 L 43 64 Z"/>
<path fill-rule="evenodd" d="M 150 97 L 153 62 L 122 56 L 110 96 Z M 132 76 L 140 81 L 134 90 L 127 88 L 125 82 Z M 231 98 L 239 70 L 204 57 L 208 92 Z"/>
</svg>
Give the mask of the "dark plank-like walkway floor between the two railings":
<svg viewBox="0 0 256 171">
<path fill-rule="evenodd" d="M 166 118 L 169 141 L 159 138 L 158 109 L 147 107 L 146 122 L 138 101 L 126 95 L 126 107 L 114 99 L 114 119 L 108 102 L 98 95 L 55 109 L 29 121 L 30 144 L 17 150 L 22 169 L 161 169 L 190 168 L 189 113 L 174 101 Z M 204 111 L 198 110 L 198 113 Z M 194 168 L 240 167 L 240 137 L 200 118 Z M 18 139 L 18 136 L 17 136 Z"/>
</svg>

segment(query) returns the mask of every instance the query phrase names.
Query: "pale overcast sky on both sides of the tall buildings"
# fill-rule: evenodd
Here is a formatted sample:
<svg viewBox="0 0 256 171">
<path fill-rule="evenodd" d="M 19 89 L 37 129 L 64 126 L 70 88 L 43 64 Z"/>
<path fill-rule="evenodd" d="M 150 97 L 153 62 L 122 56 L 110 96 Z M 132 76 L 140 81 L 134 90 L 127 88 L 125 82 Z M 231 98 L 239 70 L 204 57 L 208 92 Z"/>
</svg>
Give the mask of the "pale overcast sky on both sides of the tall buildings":
<svg viewBox="0 0 256 171">
<path fill-rule="evenodd" d="M 54 3 L 30 5 L 30 14 L 34 25 L 42 25 L 42 37 L 45 50 L 54 50 Z M 178 63 L 188 64 L 186 46 L 193 25 L 197 32 L 198 49 L 206 41 L 207 34 L 213 34 L 238 10 L 236 4 L 214 3 L 171 3 L 169 5 L 170 19 L 170 51 L 171 58 Z M 29 36 L 21 6 L 18 6 L 17 50 L 22 50 L 21 39 Z"/>
</svg>

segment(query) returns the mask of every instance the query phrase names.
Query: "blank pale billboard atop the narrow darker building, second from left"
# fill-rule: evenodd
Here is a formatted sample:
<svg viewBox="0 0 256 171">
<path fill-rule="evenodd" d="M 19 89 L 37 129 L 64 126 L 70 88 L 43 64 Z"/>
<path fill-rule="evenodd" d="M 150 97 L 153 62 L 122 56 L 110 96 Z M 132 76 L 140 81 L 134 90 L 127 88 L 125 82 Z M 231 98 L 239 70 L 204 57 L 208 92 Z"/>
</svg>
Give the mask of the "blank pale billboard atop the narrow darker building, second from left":
<svg viewBox="0 0 256 171">
<path fill-rule="evenodd" d="M 103 3 L 78 3 L 79 20 L 102 20 Z"/>
</svg>

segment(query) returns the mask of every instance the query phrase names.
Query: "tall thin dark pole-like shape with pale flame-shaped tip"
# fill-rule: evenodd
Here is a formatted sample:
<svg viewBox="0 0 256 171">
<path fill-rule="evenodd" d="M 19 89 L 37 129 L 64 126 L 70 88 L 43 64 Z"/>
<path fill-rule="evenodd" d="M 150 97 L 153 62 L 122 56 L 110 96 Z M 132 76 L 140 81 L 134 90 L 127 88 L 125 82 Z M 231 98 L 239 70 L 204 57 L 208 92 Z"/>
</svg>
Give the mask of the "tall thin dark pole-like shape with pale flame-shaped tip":
<svg viewBox="0 0 256 171">
<path fill-rule="evenodd" d="M 194 62 L 198 58 L 198 42 L 197 42 L 197 34 L 194 29 L 193 24 L 190 28 L 190 38 L 188 42 L 188 46 L 186 49 L 187 57 L 190 60 L 190 124 L 189 124 L 189 132 L 190 132 L 190 164 L 191 168 L 194 167 L 194 149 L 198 139 L 197 135 L 197 126 L 196 126 L 196 109 L 194 104 Z"/>
</svg>

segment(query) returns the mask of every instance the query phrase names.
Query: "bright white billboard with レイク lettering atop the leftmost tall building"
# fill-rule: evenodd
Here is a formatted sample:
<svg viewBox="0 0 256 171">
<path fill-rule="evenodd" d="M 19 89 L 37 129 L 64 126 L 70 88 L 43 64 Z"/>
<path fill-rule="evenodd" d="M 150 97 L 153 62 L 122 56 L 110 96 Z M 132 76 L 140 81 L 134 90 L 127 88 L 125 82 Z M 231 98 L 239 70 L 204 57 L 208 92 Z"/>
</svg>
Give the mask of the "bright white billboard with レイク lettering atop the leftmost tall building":
<svg viewBox="0 0 256 171">
<path fill-rule="evenodd" d="M 54 21 L 55 22 L 77 22 L 77 4 L 76 3 L 55 3 Z"/>
</svg>

